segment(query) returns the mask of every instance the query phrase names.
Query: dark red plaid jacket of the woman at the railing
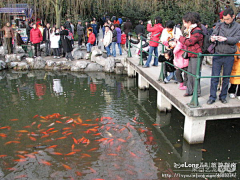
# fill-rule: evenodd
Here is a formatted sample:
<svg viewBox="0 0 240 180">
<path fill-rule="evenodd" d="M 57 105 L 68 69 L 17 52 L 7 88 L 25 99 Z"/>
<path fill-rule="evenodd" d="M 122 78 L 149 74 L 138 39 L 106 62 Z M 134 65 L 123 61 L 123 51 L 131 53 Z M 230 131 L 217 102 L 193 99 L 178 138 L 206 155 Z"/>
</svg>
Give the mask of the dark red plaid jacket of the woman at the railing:
<svg viewBox="0 0 240 180">
<path fill-rule="evenodd" d="M 190 38 L 186 38 L 180 36 L 179 41 L 187 46 L 188 51 L 192 51 L 195 53 L 202 53 L 202 46 L 203 46 L 203 35 L 200 33 L 192 34 L 195 30 L 201 30 L 199 27 L 192 29 Z M 188 53 L 188 57 L 197 57 L 197 55 Z"/>
</svg>

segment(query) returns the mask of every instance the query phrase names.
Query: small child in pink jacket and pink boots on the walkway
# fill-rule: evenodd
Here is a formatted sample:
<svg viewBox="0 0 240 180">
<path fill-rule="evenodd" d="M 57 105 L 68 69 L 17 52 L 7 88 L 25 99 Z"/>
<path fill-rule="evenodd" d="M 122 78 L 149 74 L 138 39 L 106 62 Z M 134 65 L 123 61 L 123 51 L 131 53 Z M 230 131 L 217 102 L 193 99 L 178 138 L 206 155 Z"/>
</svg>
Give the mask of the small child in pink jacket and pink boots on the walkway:
<svg viewBox="0 0 240 180">
<path fill-rule="evenodd" d="M 185 45 L 183 45 L 182 43 L 180 43 L 179 41 L 177 41 L 176 39 L 170 39 L 168 41 L 168 44 L 170 46 L 170 48 L 173 48 L 173 54 L 174 54 L 174 60 L 173 60 L 173 64 L 185 71 L 187 71 L 187 67 L 188 67 L 188 62 L 189 59 L 183 59 L 182 54 L 184 53 L 183 50 L 181 49 L 186 49 Z M 187 89 L 187 73 L 181 71 L 180 69 L 178 69 L 176 67 L 176 77 L 179 84 L 179 89 L 181 90 L 186 90 Z M 183 73 L 183 76 L 182 76 Z"/>
</svg>

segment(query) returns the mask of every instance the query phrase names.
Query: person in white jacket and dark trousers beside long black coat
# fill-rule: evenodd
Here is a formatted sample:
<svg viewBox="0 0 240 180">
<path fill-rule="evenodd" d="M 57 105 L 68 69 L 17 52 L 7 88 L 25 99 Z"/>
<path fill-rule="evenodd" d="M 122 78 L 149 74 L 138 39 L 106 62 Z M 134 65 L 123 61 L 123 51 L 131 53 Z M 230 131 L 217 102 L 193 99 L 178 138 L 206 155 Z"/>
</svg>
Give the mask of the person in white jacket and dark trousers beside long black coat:
<svg viewBox="0 0 240 180">
<path fill-rule="evenodd" d="M 59 35 L 59 29 L 56 29 L 53 27 L 51 29 L 51 34 L 50 34 L 50 47 L 53 49 L 53 58 L 60 58 L 59 56 L 59 40 L 60 40 L 60 35 Z"/>
</svg>

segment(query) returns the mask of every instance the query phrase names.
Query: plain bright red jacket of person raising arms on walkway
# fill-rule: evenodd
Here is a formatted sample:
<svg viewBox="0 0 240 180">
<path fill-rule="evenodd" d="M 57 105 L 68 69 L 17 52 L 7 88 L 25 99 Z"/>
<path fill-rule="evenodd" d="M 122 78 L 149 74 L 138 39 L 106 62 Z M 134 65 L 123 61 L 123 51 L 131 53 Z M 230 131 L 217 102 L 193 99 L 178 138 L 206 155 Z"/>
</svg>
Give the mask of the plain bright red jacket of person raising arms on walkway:
<svg viewBox="0 0 240 180">
<path fill-rule="evenodd" d="M 147 31 L 151 32 L 151 37 L 150 37 L 150 40 L 153 40 L 153 41 L 159 41 L 159 37 L 161 36 L 162 34 L 162 31 L 163 31 L 163 27 L 161 24 L 155 24 L 153 27 L 151 24 L 148 24 L 147 25 Z M 153 41 L 150 41 L 149 42 L 149 45 L 152 46 L 152 47 L 158 47 L 158 43 L 157 42 L 153 42 Z"/>
</svg>

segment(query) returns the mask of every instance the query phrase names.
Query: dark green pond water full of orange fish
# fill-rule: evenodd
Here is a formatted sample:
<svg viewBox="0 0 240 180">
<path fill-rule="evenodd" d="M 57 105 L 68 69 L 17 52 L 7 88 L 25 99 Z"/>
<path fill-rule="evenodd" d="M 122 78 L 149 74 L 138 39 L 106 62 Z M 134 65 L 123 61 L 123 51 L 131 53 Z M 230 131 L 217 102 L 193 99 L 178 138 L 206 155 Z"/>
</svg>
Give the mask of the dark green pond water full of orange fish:
<svg viewBox="0 0 240 180">
<path fill-rule="evenodd" d="M 0 79 L 0 179 L 238 177 L 238 120 L 209 121 L 204 144 L 188 145 L 184 116 L 159 113 L 157 92 L 139 90 L 137 78 L 1 71 Z"/>
</svg>

